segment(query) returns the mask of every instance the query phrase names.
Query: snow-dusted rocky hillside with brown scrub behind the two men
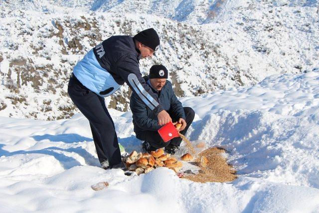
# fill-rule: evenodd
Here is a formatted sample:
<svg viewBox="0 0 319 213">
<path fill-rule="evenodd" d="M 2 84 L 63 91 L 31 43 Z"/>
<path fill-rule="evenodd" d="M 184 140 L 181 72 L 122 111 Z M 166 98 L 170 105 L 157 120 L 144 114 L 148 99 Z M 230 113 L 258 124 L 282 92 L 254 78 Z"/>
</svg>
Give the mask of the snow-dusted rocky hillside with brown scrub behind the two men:
<svg viewBox="0 0 319 213">
<path fill-rule="evenodd" d="M 316 1 L 13 0 L 0 10 L 0 116 L 69 118 L 77 112 L 66 93 L 76 62 L 111 35 L 149 27 L 161 48 L 141 60 L 141 71 L 164 64 L 179 97 L 319 66 Z M 106 102 L 127 110 L 129 95 L 125 85 Z"/>
</svg>

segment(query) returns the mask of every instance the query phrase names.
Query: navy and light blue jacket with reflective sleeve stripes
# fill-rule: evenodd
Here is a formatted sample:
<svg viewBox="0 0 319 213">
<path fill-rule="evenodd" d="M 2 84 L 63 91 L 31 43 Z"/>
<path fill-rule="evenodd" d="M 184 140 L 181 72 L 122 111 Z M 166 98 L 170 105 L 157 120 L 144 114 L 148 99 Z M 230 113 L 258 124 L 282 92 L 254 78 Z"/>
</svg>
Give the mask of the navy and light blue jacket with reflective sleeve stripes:
<svg viewBox="0 0 319 213">
<path fill-rule="evenodd" d="M 106 97 L 124 82 L 155 114 L 162 109 L 157 94 L 142 78 L 139 68 L 140 51 L 133 37 L 111 36 L 91 49 L 73 68 L 73 74 L 88 89 Z"/>
</svg>

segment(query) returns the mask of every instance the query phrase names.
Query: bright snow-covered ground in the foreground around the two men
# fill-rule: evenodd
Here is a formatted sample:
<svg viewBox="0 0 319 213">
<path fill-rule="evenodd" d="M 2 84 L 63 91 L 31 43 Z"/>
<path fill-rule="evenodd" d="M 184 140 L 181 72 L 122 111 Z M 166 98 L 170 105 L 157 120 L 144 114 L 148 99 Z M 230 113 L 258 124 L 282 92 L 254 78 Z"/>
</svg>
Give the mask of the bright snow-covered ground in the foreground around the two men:
<svg viewBox="0 0 319 213">
<path fill-rule="evenodd" d="M 229 151 L 239 178 L 194 183 L 160 168 L 102 170 L 88 121 L 0 117 L 0 212 L 319 212 L 319 69 L 185 97 L 187 136 Z M 141 150 L 131 112 L 110 110 L 119 141 Z M 110 186 L 93 191 L 90 186 Z"/>
</svg>

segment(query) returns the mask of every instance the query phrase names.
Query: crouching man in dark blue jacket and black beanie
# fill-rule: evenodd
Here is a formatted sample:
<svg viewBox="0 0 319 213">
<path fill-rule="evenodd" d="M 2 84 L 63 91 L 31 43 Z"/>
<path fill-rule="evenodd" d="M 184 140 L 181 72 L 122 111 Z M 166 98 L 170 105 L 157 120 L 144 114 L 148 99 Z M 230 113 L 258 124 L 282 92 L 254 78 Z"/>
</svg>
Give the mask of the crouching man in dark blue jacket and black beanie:
<svg viewBox="0 0 319 213">
<path fill-rule="evenodd" d="M 180 133 L 184 135 L 192 123 L 195 113 L 190 107 L 182 107 L 171 83 L 166 80 L 167 76 L 168 71 L 163 65 L 154 65 L 150 69 L 150 74 L 144 76 L 144 79 L 157 94 L 161 106 L 168 112 L 172 122 L 178 122 L 182 125 Z M 161 126 L 156 114 L 146 107 L 134 91 L 131 95 L 130 107 L 133 113 L 134 132 L 138 139 L 144 141 L 143 149 L 145 152 L 164 147 L 166 152 L 174 154 L 179 149 L 181 138 L 173 138 L 165 143 L 158 133 Z"/>
</svg>

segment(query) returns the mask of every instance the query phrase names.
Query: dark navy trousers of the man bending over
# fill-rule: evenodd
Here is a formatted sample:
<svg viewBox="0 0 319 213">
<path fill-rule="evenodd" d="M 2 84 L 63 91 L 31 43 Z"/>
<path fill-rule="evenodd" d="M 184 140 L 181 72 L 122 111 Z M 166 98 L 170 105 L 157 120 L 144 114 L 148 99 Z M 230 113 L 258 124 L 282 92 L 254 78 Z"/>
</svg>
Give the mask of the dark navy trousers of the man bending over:
<svg viewBox="0 0 319 213">
<path fill-rule="evenodd" d="M 121 163 L 121 152 L 113 120 L 104 98 L 87 89 L 71 75 L 68 93 L 82 114 L 89 120 L 96 152 L 100 163 L 109 161 L 112 168 Z"/>
</svg>

